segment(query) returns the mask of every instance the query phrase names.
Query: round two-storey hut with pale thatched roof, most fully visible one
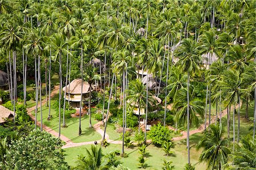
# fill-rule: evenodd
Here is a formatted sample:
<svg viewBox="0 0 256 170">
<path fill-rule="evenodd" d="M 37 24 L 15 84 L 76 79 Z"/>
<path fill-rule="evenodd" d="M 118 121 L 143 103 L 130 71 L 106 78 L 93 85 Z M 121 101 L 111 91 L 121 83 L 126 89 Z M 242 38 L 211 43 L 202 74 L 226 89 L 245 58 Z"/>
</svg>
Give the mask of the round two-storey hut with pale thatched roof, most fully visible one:
<svg viewBox="0 0 256 170">
<path fill-rule="evenodd" d="M 75 79 L 70 84 L 62 88 L 64 91 L 64 99 L 71 101 L 71 106 L 73 108 L 78 108 L 80 106 L 81 101 L 81 86 L 82 86 L 82 101 L 89 99 L 90 92 L 90 84 L 88 82 L 83 81 L 82 79 Z M 92 91 L 94 87 L 92 86 Z"/>
</svg>

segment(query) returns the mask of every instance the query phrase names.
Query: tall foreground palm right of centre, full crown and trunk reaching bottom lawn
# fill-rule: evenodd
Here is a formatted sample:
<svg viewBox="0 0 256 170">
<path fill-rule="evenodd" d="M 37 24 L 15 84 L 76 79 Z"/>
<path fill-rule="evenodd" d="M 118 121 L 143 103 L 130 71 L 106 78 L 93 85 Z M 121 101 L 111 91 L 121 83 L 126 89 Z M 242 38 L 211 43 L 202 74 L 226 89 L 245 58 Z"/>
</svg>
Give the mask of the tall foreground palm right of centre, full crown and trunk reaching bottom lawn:
<svg viewBox="0 0 256 170">
<path fill-rule="evenodd" d="M 177 65 L 181 66 L 181 69 L 188 74 L 187 80 L 187 148 L 188 148 L 188 164 L 190 164 L 190 147 L 189 147 L 189 80 L 190 75 L 193 71 L 199 70 L 199 65 L 201 63 L 201 56 L 199 54 L 199 46 L 197 42 L 191 39 L 184 39 L 181 42 L 181 46 L 177 51 L 177 56 L 179 56 L 179 61 Z"/>
</svg>

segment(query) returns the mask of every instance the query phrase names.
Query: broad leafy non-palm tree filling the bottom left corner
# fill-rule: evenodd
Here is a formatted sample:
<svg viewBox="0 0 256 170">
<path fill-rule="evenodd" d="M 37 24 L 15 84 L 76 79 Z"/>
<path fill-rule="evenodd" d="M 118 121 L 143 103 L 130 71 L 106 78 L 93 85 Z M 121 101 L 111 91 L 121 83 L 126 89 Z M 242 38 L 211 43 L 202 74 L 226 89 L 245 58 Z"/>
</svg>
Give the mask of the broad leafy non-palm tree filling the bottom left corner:
<svg viewBox="0 0 256 170">
<path fill-rule="evenodd" d="M 31 131 L 27 137 L 12 141 L 2 169 L 69 169 L 62 143 L 46 131 Z"/>
</svg>

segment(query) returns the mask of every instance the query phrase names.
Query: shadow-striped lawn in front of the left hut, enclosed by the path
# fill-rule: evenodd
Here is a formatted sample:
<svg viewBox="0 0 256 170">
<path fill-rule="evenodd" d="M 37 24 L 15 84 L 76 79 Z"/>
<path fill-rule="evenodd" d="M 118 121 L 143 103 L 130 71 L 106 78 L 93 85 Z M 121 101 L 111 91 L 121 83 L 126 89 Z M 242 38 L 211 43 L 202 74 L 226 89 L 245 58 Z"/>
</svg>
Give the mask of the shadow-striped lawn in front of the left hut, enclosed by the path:
<svg viewBox="0 0 256 170">
<path fill-rule="evenodd" d="M 43 124 L 52 128 L 53 130 L 59 132 L 59 116 L 56 116 L 54 109 L 51 109 L 52 119 L 51 121 L 47 120 L 48 117 L 48 107 L 42 107 L 43 113 Z M 35 115 L 35 113 L 34 113 Z M 40 108 L 38 109 L 38 121 L 40 121 Z M 61 117 L 61 126 L 63 125 L 63 118 Z M 81 118 L 81 129 L 82 135 L 79 133 L 79 118 L 66 118 L 65 119 L 67 128 L 61 127 L 61 134 L 65 137 L 68 137 L 75 143 L 79 142 L 88 142 L 88 141 L 97 141 L 101 139 L 101 135 L 97 133 L 93 128 L 89 128 L 89 116 Z M 92 125 L 96 124 L 97 121 L 92 118 Z"/>
</svg>

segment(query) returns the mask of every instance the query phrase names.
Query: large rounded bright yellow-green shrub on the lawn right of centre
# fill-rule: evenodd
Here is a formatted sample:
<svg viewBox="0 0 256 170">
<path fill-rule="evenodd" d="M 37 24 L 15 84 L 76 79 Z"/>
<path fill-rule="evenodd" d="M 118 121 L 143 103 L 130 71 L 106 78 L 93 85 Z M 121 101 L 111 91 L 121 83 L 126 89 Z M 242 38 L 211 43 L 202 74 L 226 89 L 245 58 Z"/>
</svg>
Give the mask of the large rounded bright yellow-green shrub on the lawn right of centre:
<svg viewBox="0 0 256 170">
<path fill-rule="evenodd" d="M 161 124 L 154 125 L 148 133 L 155 145 L 162 145 L 164 141 L 171 141 L 171 130 Z"/>
</svg>

